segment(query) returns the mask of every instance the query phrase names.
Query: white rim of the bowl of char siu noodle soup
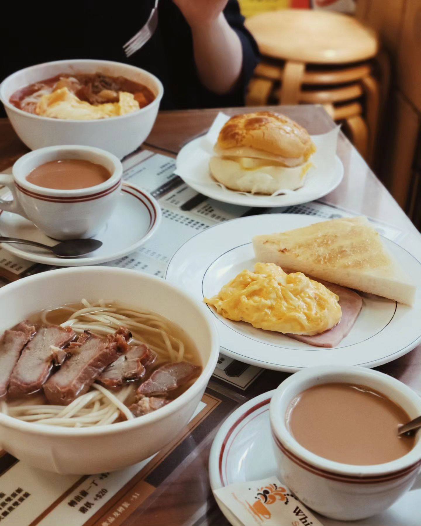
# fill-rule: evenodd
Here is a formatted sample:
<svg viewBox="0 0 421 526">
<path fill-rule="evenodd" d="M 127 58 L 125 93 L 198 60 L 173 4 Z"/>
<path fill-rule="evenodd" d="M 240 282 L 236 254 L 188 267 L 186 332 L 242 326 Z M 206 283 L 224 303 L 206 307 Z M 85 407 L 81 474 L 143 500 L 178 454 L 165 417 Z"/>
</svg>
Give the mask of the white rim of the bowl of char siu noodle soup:
<svg viewBox="0 0 421 526">
<path fill-rule="evenodd" d="M 22 280 L 17 280 L 8 285 L 5 285 L 0 289 L 0 301 L 2 300 L 2 296 L 5 295 L 5 291 L 6 294 L 13 294 L 14 289 L 25 286 L 25 284 L 29 282 L 37 281 L 38 279 L 44 277 L 48 279 L 48 277 L 52 274 L 60 273 L 77 275 L 83 274 L 86 271 L 88 273 L 94 272 L 96 274 L 126 274 L 132 275 L 134 278 L 136 278 L 136 276 L 141 276 L 142 278 L 146 278 L 150 281 L 154 281 L 156 283 L 164 285 L 164 287 L 166 287 L 169 292 L 171 292 L 171 290 L 178 292 L 178 294 L 181 294 L 187 302 L 194 304 L 196 308 L 201 312 L 202 317 L 209 329 L 209 332 L 211 333 L 211 356 L 209 356 L 206 366 L 203 368 L 201 375 L 197 378 L 193 385 L 189 387 L 186 391 L 184 391 L 182 395 L 172 400 L 171 403 L 167 404 L 166 406 L 157 409 L 152 413 L 144 414 L 142 417 L 135 417 L 132 420 L 125 420 L 124 422 L 116 422 L 112 424 L 106 424 L 105 426 L 97 426 L 90 428 L 65 428 L 60 426 L 48 426 L 47 424 L 37 424 L 34 422 L 25 422 L 0 412 L 0 426 L 3 425 L 8 428 L 17 429 L 19 431 L 31 434 L 55 437 L 93 437 L 97 436 L 98 434 L 119 433 L 131 428 L 142 426 L 143 424 L 146 425 L 148 423 L 162 420 L 169 414 L 174 413 L 178 409 L 180 409 L 184 405 L 184 401 L 187 402 L 189 398 L 193 399 L 203 387 L 206 388 L 209 378 L 212 376 L 212 373 L 216 367 L 216 363 L 219 356 L 219 337 L 218 332 L 216 330 L 215 322 L 209 317 L 207 309 L 204 305 L 200 304 L 192 296 L 188 295 L 183 290 L 179 289 L 174 285 L 171 285 L 168 281 L 166 281 L 163 278 L 158 278 L 156 276 L 146 274 L 146 272 L 119 267 L 86 266 L 47 270 L 45 272 L 41 272 L 40 274 L 34 274 L 33 276 L 28 276 L 26 278 L 23 278 Z M 215 352 L 213 352 L 213 349 L 216 349 Z M 206 380 L 205 385 L 203 385 L 204 379 L 206 377 L 208 379 Z"/>
</svg>

